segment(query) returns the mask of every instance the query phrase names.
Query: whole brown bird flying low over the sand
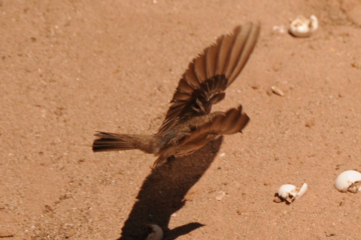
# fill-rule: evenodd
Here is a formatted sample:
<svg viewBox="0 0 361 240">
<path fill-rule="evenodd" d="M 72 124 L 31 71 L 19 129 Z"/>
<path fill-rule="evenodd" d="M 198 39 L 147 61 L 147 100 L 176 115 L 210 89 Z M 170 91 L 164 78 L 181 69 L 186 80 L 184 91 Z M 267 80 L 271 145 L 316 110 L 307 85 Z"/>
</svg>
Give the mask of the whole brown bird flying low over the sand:
<svg viewBox="0 0 361 240">
<path fill-rule="evenodd" d="M 157 156 L 154 166 L 158 167 L 169 157 L 190 154 L 219 135 L 242 132 L 249 120 L 242 105 L 225 113 L 210 110 L 225 97 L 225 89 L 243 69 L 259 32 L 259 23 L 238 26 L 193 59 L 156 134 L 97 132 L 93 151 L 139 149 Z"/>
</svg>

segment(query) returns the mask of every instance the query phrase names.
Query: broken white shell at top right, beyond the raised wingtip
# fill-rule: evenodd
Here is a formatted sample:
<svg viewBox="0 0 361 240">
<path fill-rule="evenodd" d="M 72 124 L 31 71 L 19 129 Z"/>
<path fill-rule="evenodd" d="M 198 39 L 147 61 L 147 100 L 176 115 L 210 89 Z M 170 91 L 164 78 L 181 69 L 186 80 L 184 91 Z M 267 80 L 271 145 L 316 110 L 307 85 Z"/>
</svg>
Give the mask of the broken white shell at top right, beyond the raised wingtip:
<svg viewBox="0 0 361 240">
<path fill-rule="evenodd" d="M 308 37 L 318 28 L 318 20 L 316 16 L 311 15 L 305 18 L 300 15 L 290 24 L 288 31 L 295 37 Z"/>
</svg>

